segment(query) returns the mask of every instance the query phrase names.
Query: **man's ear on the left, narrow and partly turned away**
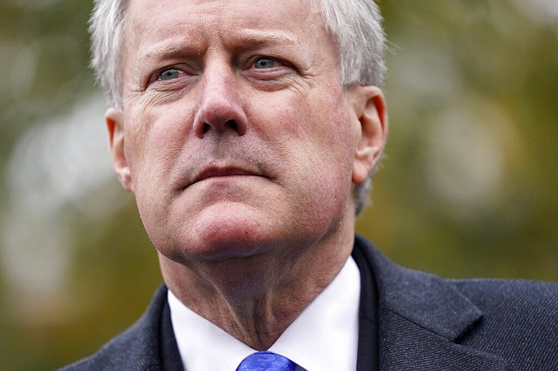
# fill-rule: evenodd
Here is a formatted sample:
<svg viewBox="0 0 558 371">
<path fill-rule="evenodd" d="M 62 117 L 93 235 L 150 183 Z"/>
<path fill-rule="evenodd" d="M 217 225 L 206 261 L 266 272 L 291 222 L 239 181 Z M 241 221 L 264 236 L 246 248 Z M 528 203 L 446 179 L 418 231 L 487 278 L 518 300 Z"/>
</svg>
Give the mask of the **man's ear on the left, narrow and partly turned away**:
<svg viewBox="0 0 558 371">
<path fill-rule="evenodd" d="M 105 112 L 107 129 L 109 130 L 110 154 L 112 155 L 112 166 L 118 176 L 122 187 L 127 191 L 134 192 L 130 164 L 124 150 L 124 118 L 120 109 L 111 107 Z"/>
</svg>

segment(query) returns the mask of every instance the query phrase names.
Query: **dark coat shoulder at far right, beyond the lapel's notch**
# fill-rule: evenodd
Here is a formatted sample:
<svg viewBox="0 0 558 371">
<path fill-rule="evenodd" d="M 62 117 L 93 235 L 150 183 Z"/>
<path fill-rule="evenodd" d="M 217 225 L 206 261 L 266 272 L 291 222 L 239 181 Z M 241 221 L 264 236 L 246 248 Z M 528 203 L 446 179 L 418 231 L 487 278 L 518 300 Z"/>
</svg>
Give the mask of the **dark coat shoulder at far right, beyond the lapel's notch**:
<svg viewBox="0 0 558 371">
<path fill-rule="evenodd" d="M 558 284 L 495 279 L 450 282 L 483 312 L 472 331 L 460 339 L 463 345 L 513 360 L 518 370 L 530 370 L 534 364 L 558 370 Z"/>
</svg>

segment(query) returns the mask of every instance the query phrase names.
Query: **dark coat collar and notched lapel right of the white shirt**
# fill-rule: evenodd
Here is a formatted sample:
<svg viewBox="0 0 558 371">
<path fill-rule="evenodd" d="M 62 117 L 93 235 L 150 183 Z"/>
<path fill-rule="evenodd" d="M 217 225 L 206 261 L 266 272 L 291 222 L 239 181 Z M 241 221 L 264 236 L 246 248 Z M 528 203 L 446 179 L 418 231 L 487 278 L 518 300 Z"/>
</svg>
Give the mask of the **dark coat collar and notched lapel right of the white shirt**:
<svg viewBox="0 0 558 371">
<path fill-rule="evenodd" d="M 361 333 L 363 326 L 370 328 L 371 322 L 377 322 L 379 370 L 507 369 L 502 358 L 458 344 L 462 336 L 474 331 L 482 313 L 451 283 L 395 265 L 360 237 L 356 237 L 353 257 L 363 282 Z M 363 310 L 374 296 L 366 281 L 377 287 L 376 317 L 369 315 L 373 311 Z M 359 338 L 358 371 L 371 370 L 361 362 L 361 354 L 370 352 L 369 345 L 368 339 Z"/>
</svg>

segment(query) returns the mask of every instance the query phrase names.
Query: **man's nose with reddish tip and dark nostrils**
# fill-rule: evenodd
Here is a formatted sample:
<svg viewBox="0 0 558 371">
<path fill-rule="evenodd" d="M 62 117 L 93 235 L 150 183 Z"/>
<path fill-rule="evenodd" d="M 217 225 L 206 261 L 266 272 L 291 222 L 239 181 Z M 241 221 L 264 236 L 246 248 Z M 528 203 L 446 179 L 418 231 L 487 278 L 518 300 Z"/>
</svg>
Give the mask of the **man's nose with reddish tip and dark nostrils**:
<svg viewBox="0 0 558 371">
<path fill-rule="evenodd" d="M 230 68 L 206 68 L 202 93 L 194 120 L 195 135 L 202 139 L 216 133 L 246 134 L 247 118 L 239 102 L 239 88 Z"/>
</svg>

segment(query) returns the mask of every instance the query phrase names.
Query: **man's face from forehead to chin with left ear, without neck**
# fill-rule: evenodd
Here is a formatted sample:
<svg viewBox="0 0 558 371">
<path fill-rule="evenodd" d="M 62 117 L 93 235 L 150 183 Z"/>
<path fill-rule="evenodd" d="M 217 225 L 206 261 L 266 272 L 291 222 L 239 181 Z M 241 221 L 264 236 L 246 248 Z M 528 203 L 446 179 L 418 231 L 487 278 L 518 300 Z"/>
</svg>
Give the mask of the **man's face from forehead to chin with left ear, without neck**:
<svg viewBox="0 0 558 371">
<path fill-rule="evenodd" d="M 126 17 L 107 122 L 163 255 L 285 256 L 345 228 L 361 127 L 317 4 L 132 0 Z"/>
</svg>

